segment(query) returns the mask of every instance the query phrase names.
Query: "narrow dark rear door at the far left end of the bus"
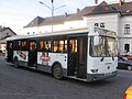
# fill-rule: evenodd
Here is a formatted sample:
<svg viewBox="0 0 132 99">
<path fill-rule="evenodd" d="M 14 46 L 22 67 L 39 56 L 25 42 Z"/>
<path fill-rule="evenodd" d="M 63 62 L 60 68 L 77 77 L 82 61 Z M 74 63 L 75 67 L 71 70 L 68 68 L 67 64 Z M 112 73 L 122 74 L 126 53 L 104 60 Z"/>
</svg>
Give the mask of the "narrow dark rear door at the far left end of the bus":
<svg viewBox="0 0 132 99">
<path fill-rule="evenodd" d="M 7 50 L 8 50 L 8 62 L 13 63 L 13 42 L 12 41 L 8 41 Z"/>
</svg>

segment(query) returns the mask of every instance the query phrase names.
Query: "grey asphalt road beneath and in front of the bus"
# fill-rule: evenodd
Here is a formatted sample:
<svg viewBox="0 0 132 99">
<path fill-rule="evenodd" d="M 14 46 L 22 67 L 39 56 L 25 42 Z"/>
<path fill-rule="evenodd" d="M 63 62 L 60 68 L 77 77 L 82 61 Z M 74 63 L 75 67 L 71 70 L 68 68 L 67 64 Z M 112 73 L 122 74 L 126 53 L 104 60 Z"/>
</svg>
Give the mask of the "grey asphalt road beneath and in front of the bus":
<svg viewBox="0 0 132 99">
<path fill-rule="evenodd" d="M 0 99 L 122 99 L 130 85 L 128 70 L 97 82 L 57 80 L 46 73 L 14 68 L 0 56 Z"/>
</svg>

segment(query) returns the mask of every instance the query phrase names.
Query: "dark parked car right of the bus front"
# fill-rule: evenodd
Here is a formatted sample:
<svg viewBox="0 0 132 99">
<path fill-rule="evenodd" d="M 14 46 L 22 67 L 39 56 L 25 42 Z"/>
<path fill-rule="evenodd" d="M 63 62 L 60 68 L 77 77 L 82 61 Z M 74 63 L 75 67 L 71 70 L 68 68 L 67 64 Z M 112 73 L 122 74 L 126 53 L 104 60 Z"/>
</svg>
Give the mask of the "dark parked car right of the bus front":
<svg viewBox="0 0 132 99">
<path fill-rule="evenodd" d="M 129 61 L 127 57 L 118 57 L 118 69 L 129 69 L 132 70 L 132 61 Z"/>
</svg>

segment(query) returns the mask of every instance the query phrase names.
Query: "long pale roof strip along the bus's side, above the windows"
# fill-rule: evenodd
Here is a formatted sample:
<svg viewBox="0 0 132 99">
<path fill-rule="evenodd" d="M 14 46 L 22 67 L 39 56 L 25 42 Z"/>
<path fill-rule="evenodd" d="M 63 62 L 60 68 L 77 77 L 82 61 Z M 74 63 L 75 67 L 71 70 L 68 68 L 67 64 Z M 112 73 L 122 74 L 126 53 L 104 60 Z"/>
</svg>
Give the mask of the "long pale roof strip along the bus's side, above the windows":
<svg viewBox="0 0 132 99">
<path fill-rule="evenodd" d="M 67 35 L 67 34 L 81 34 L 81 33 L 88 33 L 88 29 L 72 29 L 66 31 L 56 31 L 56 32 L 47 32 L 47 33 L 41 33 L 41 34 L 32 34 L 32 35 L 14 35 L 11 37 L 8 37 L 7 41 L 11 40 L 21 40 L 21 38 L 32 38 L 32 37 L 42 37 L 42 36 L 52 36 L 52 35 Z"/>
</svg>

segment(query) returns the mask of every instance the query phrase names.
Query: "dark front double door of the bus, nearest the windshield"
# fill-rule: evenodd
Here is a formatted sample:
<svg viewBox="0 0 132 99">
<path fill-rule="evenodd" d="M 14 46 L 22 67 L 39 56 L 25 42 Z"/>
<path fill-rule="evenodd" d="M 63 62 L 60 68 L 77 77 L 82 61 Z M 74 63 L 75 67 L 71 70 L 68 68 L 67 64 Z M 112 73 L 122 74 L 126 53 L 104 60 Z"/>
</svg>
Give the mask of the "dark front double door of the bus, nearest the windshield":
<svg viewBox="0 0 132 99">
<path fill-rule="evenodd" d="M 68 37 L 68 76 L 86 78 L 87 36 Z"/>
</svg>

